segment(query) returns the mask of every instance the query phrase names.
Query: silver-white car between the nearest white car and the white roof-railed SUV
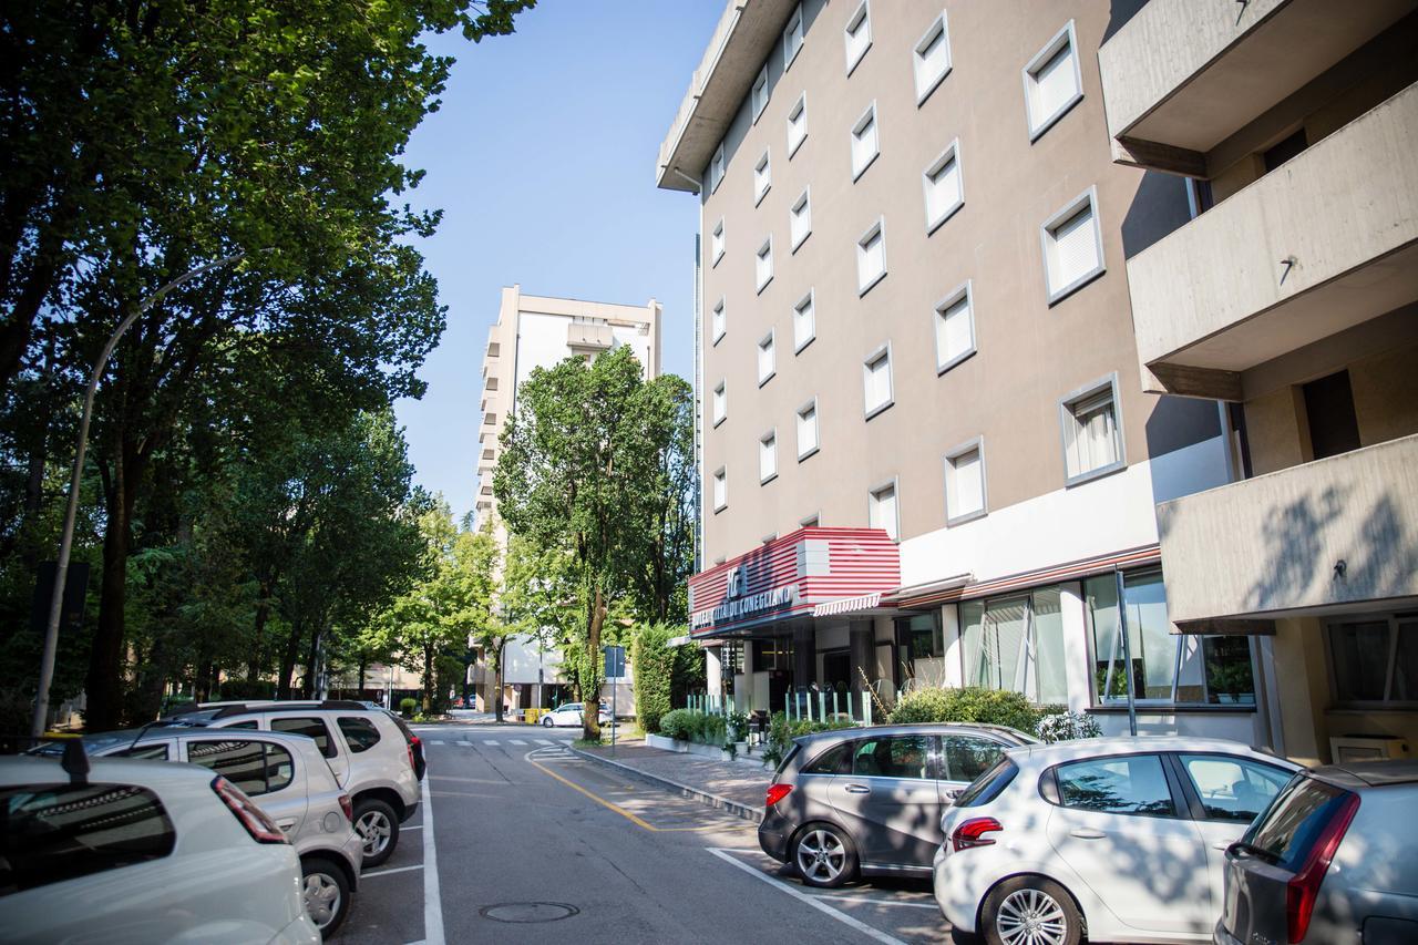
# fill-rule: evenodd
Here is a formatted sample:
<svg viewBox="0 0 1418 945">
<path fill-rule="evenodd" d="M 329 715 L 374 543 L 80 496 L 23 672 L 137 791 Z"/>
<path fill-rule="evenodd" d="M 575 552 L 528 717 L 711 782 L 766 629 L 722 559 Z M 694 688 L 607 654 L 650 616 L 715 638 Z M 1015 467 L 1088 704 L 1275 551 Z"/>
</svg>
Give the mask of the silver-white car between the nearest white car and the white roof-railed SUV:
<svg viewBox="0 0 1418 945">
<path fill-rule="evenodd" d="M 332 935 L 359 885 L 364 839 L 350 822 L 350 797 L 315 739 L 281 732 L 147 728 L 88 735 L 89 755 L 189 762 L 240 788 L 275 820 L 301 857 L 305 908 Z"/>
</svg>

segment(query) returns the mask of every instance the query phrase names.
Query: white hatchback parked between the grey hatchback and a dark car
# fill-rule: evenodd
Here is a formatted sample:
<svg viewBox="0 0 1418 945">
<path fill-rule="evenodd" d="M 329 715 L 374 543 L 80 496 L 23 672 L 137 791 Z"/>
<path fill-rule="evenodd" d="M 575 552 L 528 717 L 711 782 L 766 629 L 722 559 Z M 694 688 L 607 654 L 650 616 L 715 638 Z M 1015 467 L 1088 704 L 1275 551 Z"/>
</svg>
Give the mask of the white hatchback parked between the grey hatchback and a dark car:
<svg viewBox="0 0 1418 945">
<path fill-rule="evenodd" d="M 940 817 L 936 902 L 991 945 L 1210 941 L 1227 847 L 1296 770 L 1219 739 L 1011 748 Z"/>
</svg>

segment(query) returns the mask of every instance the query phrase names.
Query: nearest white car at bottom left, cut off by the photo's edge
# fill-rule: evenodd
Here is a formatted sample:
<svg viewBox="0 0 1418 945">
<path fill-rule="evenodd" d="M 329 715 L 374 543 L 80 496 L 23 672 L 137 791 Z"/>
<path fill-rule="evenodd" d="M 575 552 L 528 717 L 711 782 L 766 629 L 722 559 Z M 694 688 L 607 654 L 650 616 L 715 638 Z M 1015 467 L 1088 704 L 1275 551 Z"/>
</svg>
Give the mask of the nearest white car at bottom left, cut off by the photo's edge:
<svg viewBox="0 0 1418 945">
<path fill-rule="evenodd" d="M 191 765 L 86 766 L 0 758 L 0 938 L 319 945 L 295 849 L 240 788 Z"/>
</svg>

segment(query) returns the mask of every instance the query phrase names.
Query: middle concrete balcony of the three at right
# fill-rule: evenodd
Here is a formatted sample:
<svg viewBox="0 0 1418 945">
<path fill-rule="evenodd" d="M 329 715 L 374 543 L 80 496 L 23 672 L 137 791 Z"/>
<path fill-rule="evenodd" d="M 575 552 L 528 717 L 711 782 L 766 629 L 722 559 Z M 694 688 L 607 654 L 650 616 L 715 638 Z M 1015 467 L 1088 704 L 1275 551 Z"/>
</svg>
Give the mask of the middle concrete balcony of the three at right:
<svg viewBox="0 0 1418 945">
<path fill-rule="evenodd" d="M 1129 260 L 1149 389 L 1241 400 L 1241 372 L 1418 299 L 1414 155 L 1418 84 Z"/>
</svg>

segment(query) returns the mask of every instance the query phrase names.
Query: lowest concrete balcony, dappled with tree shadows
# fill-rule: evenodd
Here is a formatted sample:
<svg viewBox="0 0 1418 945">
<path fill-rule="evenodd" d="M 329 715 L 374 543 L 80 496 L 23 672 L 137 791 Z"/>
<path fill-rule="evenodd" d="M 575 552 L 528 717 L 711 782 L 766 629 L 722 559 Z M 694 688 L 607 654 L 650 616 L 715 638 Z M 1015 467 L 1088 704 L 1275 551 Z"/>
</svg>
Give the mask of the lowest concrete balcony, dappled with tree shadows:
<svg viewBox="0 0 1418 945">
<path fill-rule="evenodd" d="M 1183 630 L 1418 596 L 1418 436 L 1163 502 L 1157 526 Z"/>
</svg>

